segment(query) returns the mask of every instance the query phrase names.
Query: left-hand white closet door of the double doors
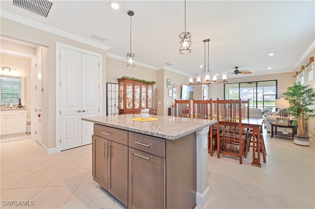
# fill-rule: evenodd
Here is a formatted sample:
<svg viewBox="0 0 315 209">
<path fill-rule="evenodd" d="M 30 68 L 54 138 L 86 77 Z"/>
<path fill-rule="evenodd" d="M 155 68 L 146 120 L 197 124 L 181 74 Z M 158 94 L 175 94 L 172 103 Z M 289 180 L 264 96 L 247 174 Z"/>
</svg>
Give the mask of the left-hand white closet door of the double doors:
<svg viewBox="0 0 315 209">
<path fill-rule="evenodd" d="M 82 145 L 81 52 L 61 47 L 61 146 L 66 150 Z"/>
</svg>

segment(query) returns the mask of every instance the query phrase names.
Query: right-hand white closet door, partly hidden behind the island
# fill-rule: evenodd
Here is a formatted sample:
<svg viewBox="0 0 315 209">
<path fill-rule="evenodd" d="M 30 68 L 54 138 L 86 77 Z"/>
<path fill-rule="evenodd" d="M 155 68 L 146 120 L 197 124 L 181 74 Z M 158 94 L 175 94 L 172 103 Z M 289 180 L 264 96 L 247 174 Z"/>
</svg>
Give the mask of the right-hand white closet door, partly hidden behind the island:
<svg viewBox="0 0 315 209">
<path fill-rule="evenodd" d="M 82 117 L 99 116 L 99 57 L 82 53 Z M 82 121 L 82 145 L 91 144 L 93 123 Z"/>
</svg>

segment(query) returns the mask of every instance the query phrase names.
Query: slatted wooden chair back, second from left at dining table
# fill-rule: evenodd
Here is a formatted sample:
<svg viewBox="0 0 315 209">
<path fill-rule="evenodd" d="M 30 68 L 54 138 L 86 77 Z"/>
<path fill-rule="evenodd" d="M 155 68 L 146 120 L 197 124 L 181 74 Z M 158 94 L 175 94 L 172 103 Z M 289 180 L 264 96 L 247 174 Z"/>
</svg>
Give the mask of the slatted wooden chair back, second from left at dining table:
<svg viewBox="0 0 315 209">
<path fill-rule="evenodd" d="M 193 118 L 212 119 L 212 99 L 192 101 Z"/>
</svg>

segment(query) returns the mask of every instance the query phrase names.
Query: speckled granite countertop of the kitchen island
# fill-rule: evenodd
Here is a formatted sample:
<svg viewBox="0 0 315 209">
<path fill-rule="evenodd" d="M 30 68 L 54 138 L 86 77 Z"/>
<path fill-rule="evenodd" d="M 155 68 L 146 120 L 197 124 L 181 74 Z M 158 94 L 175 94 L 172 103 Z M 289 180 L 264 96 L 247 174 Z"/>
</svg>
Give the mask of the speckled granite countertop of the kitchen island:
<svg viewBox="0 0 315 209">
<path fill-rule="evenodd" d="M 81 118 L 81 120 L 171 140 L 178 139 L 188 135 L 189 133 L 217 123 L 216 120 L 180 118 L 160 115 L 152 116 L 154 118 L 158 118 L 157 121 L 140 122 L 131 120 L 131 118 L 137 117 L 139 117 L 139 114 L 90 117 Z"/>
</svg>

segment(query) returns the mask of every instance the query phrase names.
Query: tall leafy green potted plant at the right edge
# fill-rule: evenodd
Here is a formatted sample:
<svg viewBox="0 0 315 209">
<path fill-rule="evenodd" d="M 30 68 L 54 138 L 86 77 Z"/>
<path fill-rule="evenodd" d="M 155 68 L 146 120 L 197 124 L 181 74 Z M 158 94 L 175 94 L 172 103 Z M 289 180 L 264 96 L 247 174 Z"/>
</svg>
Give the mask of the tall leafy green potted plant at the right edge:
<svg viewBox="0 0 315 209">
<path fill-rule="evenodd" d="M 311 85 L 302 85 L 301 82 L 294 82 L 293 86 L 288 87 L 284 92 L 286 100 L 289 102 L 290 112 L 294 121 L 293 126 L 298 127 L 298 133 L 294 135 L 294 144 L 309 146 L 310 137 L 305 134 L 305 123 L 312 117 L 315 117 L 315 109 L 310 108 L 315 104 L 315 89 Z"/>
</svg>

